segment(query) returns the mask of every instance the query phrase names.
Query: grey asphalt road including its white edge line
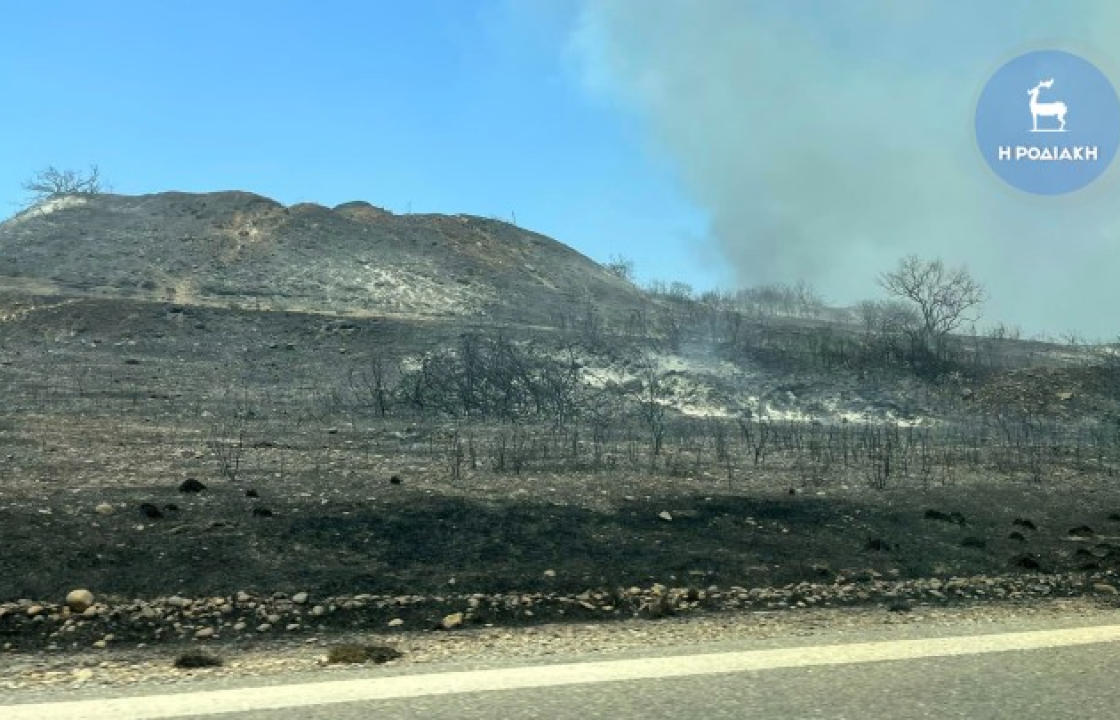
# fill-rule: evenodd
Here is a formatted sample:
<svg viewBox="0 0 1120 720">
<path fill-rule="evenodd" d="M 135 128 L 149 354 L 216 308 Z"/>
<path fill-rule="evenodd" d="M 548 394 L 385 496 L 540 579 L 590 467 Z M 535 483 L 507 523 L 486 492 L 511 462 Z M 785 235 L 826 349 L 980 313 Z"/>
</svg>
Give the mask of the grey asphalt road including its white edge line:
<svg viewBox="0 0 1120 720">
<path fill-rule="evenodd" d="M 309 682 L 305 674 L 178 692 L 64 690 L 37 703 L 0 704 L 0 718 L 1117 717 L 1120 625 L 998 629 L 776 638 L 549 664 L 374 667 L 346 680 Z"/>
</svg>

